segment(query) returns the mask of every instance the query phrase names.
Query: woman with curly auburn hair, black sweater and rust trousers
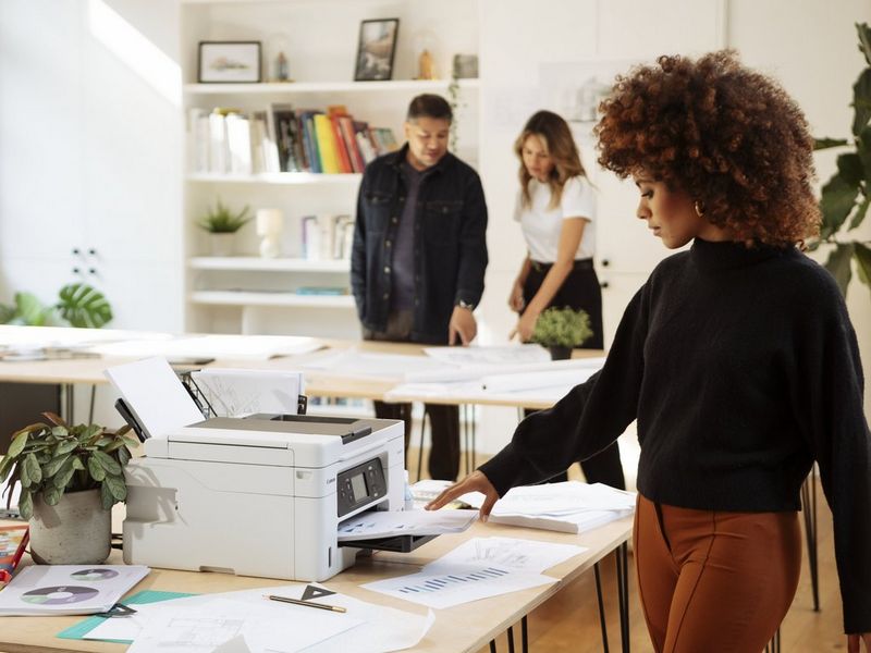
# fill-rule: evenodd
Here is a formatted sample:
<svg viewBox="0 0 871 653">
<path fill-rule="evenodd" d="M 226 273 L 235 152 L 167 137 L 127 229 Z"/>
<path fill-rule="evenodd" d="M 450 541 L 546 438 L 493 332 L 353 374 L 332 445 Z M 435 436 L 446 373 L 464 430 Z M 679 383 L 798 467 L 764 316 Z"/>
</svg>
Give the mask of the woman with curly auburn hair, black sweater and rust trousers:
<svg viewBox="0 0 871 653">
<path fill-rule="evenodd" d="M 856 335 L 800 250 L 820 217 L 812 138 L 771 78 L 715 52 L 662 57 L 600 107 L 599 162 L 639 189 L 667 248 L 602 370 L 428 507 L 511 486 L 610 445 L 638 420 L 634 531 L 657 651 L 761 651 L 798 584 L 799 490 L 832 508 L 848 651 L 871 650 L 871 435 Z M 563 439 L 543 438 L 565 433 Z"/>
</svg>

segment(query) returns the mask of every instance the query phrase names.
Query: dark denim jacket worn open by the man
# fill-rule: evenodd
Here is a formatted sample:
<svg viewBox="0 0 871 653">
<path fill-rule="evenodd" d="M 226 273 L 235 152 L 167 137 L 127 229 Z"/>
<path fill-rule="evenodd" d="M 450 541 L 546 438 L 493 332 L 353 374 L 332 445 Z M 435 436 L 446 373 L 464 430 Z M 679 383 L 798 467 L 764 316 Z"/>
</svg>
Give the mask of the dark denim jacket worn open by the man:
<svg viewBox="0 0 871 653">
<path fill-rule="evenodd" d="M 401 165 L 408 145 L 366 167 L 357 198 L 351 287 L 366 329 L 384 331 L 390 274 L 405 201 Z M 487 269 L 487 205 L 478 173 L 446 153 L 420 183 L 415 213 L 412 342 L 446 344 L 461 300 L 477 306 Z"/>
</svg>

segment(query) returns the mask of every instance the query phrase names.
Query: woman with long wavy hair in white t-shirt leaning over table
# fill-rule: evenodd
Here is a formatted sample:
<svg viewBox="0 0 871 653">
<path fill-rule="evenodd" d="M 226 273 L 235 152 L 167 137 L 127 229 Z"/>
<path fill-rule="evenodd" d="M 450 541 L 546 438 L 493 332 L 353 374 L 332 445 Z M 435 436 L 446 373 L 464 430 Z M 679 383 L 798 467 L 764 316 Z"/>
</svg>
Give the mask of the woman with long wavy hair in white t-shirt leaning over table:
<svg viewBox="0 0 871 653">
<path fill-rule="evenodd" d="M 514 151 L 520 161 L 514 219 L 520 223 L 527 255 L 508 296 L 508 306 L 520 315 L 510 337 L 528 342 L 544 309 L 568 307 L 590 317 L 592 337 L 582 346 L 601 349 L 602 291 L 592 267 L 596 202 L 572 130 L 556 113 L 537 111 Z M 580 467 L 590 483 L 626 488 L 616 443 Z M 563 470 L 551 481 L 567 479 Z"/>
</svg>

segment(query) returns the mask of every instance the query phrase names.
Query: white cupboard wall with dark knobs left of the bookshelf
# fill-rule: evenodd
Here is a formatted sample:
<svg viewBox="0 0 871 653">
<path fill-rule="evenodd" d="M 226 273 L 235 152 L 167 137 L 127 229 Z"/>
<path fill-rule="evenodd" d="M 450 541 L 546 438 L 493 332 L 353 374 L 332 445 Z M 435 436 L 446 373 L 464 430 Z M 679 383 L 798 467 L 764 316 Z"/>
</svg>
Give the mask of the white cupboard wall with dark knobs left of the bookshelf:
<svg viewBox="0 0 871 653">
<path fill-rule="evenodd" d="M 0 2 L 0 301 L 85 281 L 181 330 L 176 60 L 174 0 Z"/>
</svg>

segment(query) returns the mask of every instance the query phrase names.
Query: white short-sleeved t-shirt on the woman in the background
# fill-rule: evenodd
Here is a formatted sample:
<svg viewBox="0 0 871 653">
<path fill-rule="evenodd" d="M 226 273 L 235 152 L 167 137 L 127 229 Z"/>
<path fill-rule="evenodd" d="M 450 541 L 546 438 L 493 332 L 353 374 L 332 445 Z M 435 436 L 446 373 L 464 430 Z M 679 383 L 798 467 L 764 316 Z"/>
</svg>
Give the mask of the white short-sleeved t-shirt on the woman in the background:
<svg viewBox="0 0 871 653">
<path fill-rule="evenodd" d="M 532 200 L 531 206 L 524 207 L 523 192 L 517 190 L 514 205 L 514 219 L 520 223 L 529 258 L 540 263 L 556 261 L 560 231 L 563 220 L 567 218 L 582 218 L 587 221 L 575 259 L 592 257 L 596 250 L 596 197 L 586 177 L 575 176 L 568 180 L 563 187 L 560 206 L 554 209 L 548 208 L 551 201 L 551 187 L 548 184 L 530 180 L 529 197 Z"/>
</svg>

